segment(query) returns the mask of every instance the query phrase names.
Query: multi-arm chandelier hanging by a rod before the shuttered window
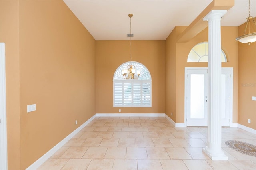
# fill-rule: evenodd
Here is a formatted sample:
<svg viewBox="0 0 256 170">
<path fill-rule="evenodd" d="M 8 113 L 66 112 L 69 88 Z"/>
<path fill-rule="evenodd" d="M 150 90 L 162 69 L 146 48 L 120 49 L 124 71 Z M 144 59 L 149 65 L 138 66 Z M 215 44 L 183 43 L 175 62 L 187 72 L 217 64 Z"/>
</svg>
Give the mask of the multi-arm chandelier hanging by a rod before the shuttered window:
<svg viewBox="0 0 256 170">
<path fill-rule="evenodd" d="M 134 65 L 132 65 L 132 16 L 133 14 L 128 15 L 130 17 L 130 34 L 127 36 L 130 37 L 130 64 L 127 66 L 126 70 L 122 71 L 122 74 L 124 76 L 124 79 L 138 79 L 140 77 L 140 70 L 136 71 L 136 68 Z M 137 72 L 137 76 L 135 75 L 135 72 Z"/>
</svg>

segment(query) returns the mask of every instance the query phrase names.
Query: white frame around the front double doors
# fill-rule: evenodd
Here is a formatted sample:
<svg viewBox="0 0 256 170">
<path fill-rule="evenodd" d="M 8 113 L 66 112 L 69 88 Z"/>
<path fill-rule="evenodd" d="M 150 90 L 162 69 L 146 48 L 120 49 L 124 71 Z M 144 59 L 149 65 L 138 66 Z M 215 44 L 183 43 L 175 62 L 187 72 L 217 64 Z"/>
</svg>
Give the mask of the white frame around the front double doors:
<svg viewBox="0 0 256 170">
<path fill-rule="evenodd" d="M 233 67 L 222 67 L 222 70 L 230 70 L 230 124 L 229 126 L 232 127 L 233 124 Z M 184 125 L 185 127 L 187 126 L 187 111 L 188 111 L 188 106 L 187 106 L 187 73 L 188 70 L 208 70 L 208 67 L 185 67 L 185 74 L 184 74 L 184 79 L 185 79 L 185 85 L 184 85 Z"/>
</svg>

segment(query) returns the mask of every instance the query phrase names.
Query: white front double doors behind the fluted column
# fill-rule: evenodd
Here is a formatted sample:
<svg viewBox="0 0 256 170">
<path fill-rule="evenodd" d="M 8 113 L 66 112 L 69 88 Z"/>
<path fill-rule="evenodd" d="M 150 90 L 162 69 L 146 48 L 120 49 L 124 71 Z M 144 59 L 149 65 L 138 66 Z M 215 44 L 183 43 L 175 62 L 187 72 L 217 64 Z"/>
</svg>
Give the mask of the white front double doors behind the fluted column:
<svg viewBox="0 0 256 170">
<path fill-rule="evenodd" d="M 221 75 L 222 126 L 230 126 L 230 70 Z M 187 126 L 207 126 L 208 122 L 208 71 L 186 70 L 185 111 Z"/>
</svg>

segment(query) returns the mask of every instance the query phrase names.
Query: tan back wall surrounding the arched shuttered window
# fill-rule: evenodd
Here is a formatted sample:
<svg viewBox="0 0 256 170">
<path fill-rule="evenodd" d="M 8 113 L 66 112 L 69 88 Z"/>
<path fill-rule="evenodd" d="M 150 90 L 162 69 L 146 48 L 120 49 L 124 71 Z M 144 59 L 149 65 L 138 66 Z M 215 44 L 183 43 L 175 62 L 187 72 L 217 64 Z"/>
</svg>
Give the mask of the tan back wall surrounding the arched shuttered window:
<svg viewBox="0 0 256 170">
<path fill-rule="evenodd" d="M 145 65 L 152 78 L 152 107 L 113 107 L 113 76 L 130 60 L 130 41 L 96 42 L 97 113 L 164 113 L 165 42 L 132 41 L 132 61 Z"/>
</svg>

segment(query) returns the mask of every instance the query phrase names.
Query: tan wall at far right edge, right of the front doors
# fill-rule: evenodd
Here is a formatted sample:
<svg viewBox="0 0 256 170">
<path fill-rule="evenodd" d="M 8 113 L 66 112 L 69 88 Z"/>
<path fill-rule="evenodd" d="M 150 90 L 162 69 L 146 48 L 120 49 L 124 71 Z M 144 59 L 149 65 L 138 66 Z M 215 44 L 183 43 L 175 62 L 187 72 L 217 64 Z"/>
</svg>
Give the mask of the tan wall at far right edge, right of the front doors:
<svg viewBox="0 0 256 170">
<path fill-rule="evenodd" d="M 244 26 L 238 27 L 239 35 L 243 34 Z M 251 26 L 250 32 L 256 32 L 256 26 Z M 239 43 L 238 49 L 238 123 L 256 130 L 256 101 L 252 101 L 252 96 L 256 96 L 256 42 Z"/>
</svg>

